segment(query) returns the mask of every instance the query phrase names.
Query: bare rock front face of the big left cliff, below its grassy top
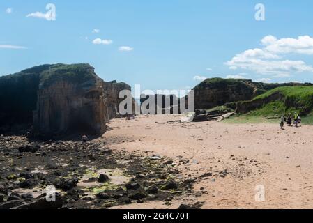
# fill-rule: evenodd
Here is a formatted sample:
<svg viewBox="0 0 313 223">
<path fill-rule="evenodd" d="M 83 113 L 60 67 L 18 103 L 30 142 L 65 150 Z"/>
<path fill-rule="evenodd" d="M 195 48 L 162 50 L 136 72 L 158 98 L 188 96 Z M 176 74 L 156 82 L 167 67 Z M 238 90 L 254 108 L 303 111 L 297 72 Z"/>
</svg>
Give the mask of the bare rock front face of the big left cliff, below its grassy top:
<svg viewBox="0 0 313 223">
<path fill-rule="evenodd" d="M 105 132 L 105 98 L 100 79 L 59 81 L 38 90 L 33 128 L 42 134 Z"/>
</svg>

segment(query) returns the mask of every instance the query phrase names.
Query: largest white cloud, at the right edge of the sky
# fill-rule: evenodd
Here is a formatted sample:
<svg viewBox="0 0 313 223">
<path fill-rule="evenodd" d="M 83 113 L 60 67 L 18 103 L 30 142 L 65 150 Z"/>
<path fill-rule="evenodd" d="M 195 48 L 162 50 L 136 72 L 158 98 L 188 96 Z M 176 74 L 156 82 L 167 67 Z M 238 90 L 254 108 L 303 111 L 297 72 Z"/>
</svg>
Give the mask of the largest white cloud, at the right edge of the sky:
<svg viewBox="0 0 313 223">
<path fill-rule="evenodd" d="M 261 43 L 264 48 L 248 49 L 225 64 L 231 70 L 242 68 L 275 77 L 289 77 L 291 73 L 297 72 L 313 72 L 313 67 L 304 61 L 282 59 L 291 53 L 313 54 L 313 38 L 310 36 L 299 36 L 297 39 L 265 36 Z"/>
</svg>

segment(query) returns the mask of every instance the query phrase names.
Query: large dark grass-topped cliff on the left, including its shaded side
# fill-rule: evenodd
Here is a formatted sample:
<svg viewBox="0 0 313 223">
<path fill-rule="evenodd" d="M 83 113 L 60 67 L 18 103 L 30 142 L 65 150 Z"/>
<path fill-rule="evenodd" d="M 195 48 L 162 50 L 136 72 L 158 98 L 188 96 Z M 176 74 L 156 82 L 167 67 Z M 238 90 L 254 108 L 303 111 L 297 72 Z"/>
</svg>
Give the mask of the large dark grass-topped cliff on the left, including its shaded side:
<svg viewBox="0 0 313 223">
<path fill-rule="evenodd" d="M 130 90 L 104 82 L 89 64 L 37 66 L 1 77 L 0 86 L 0 128 L 26 123 L 40 136 L 103 134 L 119 112 L 119 91 Z"/>
</svg>

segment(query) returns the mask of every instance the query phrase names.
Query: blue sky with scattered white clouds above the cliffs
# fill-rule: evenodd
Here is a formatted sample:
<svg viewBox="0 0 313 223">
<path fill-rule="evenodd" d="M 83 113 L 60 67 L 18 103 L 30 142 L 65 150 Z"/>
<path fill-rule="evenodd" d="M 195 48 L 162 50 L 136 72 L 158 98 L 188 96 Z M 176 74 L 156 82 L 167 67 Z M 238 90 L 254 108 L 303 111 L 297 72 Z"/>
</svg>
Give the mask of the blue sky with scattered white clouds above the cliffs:
<svg viewBox="0 0 313 223">
<path fill-rule="evenodd" d="M 46 13 L 47 3 L 55 21 L 26 17 Z M 257 3 L 265 21 L 254 18 Z M 204 77 L 313 82 L 312 8 L 309 0 L 2 0 L 0 75 L 90 63 L 106 81 L 154 91 Z"/>
</svg>

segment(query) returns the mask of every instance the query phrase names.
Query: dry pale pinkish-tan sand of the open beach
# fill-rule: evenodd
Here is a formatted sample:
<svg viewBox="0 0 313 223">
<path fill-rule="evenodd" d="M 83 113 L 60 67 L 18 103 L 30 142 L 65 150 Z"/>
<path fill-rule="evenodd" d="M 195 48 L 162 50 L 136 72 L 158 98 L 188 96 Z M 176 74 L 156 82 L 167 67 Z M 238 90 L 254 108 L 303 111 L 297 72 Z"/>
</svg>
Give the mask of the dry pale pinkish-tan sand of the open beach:
<svg viewBox="0 0 313 223">
<path fill-rule="evenodd" d="M 212 173 L 194 185 L 194 192 L 206 193 L 180 197 L 171 206 L 154 201 L 116 208 L 177 208 L 197 201 L 204 201 L 202 208 L 313 208 L 313 126 L 280 130 L 278 123 L 180 123 L 180 119 L 180 115 L 114 119 L 109 123 L 113 130 L 103 137 L 112 149 L 170 157 L 185 176 Z M 179 162 L 183 159 L 190 162 Z M 221 177 L 225 170 L 227 175 Z M 263 202 L 255 200 L 257 185 L 264 185 Z"/>
</svg>

